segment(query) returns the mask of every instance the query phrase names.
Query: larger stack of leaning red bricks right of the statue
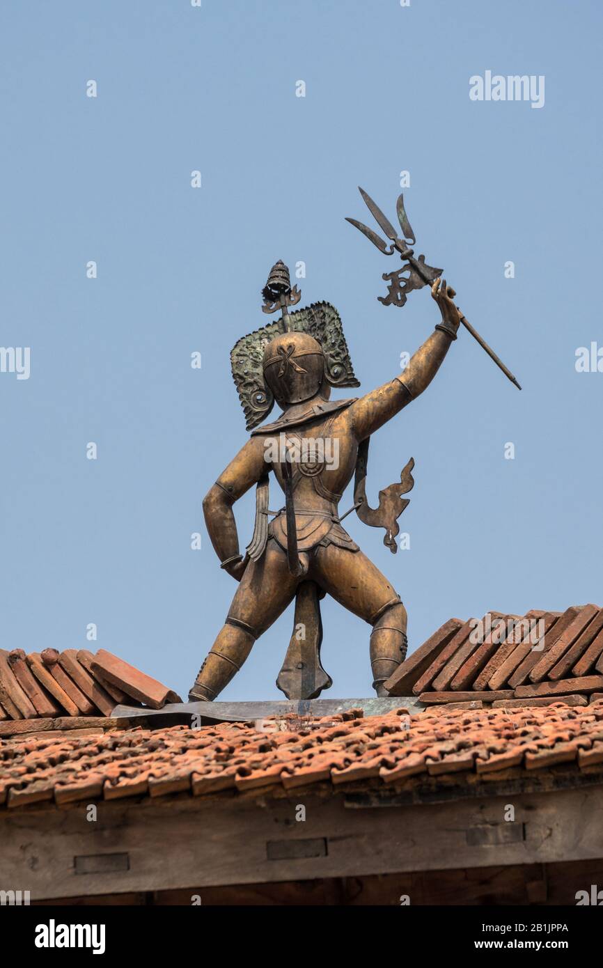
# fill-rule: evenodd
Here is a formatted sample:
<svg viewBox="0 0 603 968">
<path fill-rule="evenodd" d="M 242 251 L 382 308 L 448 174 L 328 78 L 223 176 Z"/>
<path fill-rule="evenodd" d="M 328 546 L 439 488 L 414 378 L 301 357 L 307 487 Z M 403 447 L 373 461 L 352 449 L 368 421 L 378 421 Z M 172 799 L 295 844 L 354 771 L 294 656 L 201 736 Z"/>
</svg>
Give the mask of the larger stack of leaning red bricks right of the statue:
<svg viewBox="0 0 603 968">
<path fill-rule="evenodd" d="M 544 705 L 571 696 L 586 705 L 603 692 L 603 608 L 450 619 L 385 684 L 425 703 Z"/>
</svg>

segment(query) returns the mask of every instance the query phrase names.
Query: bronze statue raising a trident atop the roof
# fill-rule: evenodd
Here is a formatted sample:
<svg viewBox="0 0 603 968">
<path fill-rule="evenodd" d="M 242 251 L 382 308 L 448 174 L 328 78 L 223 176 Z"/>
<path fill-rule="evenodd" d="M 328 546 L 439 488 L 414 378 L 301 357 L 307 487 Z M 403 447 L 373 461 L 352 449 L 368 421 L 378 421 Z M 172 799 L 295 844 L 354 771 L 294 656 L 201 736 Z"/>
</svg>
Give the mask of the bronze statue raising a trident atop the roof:
<svg viewBox="0 0 603 968">
<path fill-rule="evenodd" d="M 363 397 L 330 401 L 331 387 L 359 386 L 339 314 L 329 303 L 289 313 L 300 293 L 291 288 L 286 265 L 273 266 L 262 290 L 263 311 L 281 310 L 282 316 L 243 337 L 230 354 L 252 435 L 203 500 L 205 524 L 221 566 L 239 587 L 196 677 L 191 700 L 214 700 L 241 668 L 256 639 L 294 597 L 294 630 L 277 680 L 288 698 L 314 698 L 332 684 L 319 655 L 319 598 L 327 592 L 372 626 L 370 656 L 377 696 L 387 695 L 383 683 L 406 656 L 405 606 L 347 534 L 342 520 L 349 511 L 340 517 L 338 506 L 354 476 L 350 511 L 355 509 L 366 524 L 384 527 L 384 543 L 397 551 L 397 519 L 408 503 L 401 496 L 413 485 L 414 462 L 408 461 L 400 481 L 381 491 L 377 509 L 371 508 L 365 495 L 369 439 L 429 386 L 463 318 L 453 302 L 454 290 L 439 278 L 440 270 L 427 266 L 422 256 L 413 259 L 412 250 L 397 239 L 372 199 L 365 200 L 408 260 L 415 275 L 410 288 L 431 285 L 441 320 L 399 376 Z M 398 216 L 405 236 L 411 236 L 402 197 Z M 354 225 L 389 255 L 376 233 Z M 400 288 L 399 281 L 396 285 Z M 406 296 L 399 295 L 395 304 L 405 301 Z M 496 361 L 506 371 L 497 357 Z M 283 410 L 281 416 L 258 426 L 275 402 Z M 270 471 L 285 493 L 285 506 L 278 511 L 269 510 Z M 243 557 L 232 505 L 254 484 L 256 527 Z"/>
</svg>

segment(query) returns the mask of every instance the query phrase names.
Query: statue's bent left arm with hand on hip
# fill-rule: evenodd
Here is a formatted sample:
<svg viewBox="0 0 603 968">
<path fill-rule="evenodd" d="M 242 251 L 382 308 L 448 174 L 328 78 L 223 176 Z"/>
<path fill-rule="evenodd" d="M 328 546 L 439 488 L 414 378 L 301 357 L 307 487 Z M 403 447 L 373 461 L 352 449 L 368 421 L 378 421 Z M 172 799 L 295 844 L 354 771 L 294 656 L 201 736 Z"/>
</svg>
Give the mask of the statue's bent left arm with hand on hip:
<svg viewBox="0 0 603 968">
<path fill-rule="evenodd" d="M 248 440 L 203 499 L 203 516 L 211 543 L 224 568 L 233 577 L 240 577 L 237 565 L 241 562 L 241 554 L 232 505 L 270 469 L 264 453 L 260 437 Z"/>
</svg>

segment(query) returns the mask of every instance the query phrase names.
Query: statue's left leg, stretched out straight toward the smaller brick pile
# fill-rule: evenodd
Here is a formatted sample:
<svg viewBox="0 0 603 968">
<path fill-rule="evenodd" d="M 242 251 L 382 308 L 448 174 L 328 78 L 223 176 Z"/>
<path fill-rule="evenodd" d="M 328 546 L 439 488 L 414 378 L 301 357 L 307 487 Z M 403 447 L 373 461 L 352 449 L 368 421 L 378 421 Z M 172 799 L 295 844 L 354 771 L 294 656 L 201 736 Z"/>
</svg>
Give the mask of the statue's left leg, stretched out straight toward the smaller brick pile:
<svg viewBox="0 0 603 968">
<path fill-rule="evenodd" d="M 260 559 L 243 573 L 226 623 L 199 669 L 189 699 L 213 700 L 239 671 L 257 638 L 292 600 L 298 578 L 288 570 L 286 553 L 269 539 Z"/>
</svg>

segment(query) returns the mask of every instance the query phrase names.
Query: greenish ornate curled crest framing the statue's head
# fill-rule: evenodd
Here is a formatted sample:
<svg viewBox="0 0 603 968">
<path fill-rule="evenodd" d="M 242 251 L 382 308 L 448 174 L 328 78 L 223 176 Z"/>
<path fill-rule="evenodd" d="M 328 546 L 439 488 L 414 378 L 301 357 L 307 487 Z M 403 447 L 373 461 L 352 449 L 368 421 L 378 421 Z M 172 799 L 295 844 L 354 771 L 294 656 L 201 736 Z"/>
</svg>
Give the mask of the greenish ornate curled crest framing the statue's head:
<svg viewBox="0 0 603 968">
<path fill-rule="evenodd" d="M 290 332 L 308 333 L 322 347 L 325 376 L 331 386 L 360 386 L 347 348 L 339 313 L 327 302 L 313 303 L 287 315 Z M 243 336 L 230 351 L 230 365 L 247 430 L 253 430 L 270 413 L 274 396 L 264 383 L 262 358 L 267 343 L 286 332 L 283 319 L 269 322 Z"/>
</svg>

